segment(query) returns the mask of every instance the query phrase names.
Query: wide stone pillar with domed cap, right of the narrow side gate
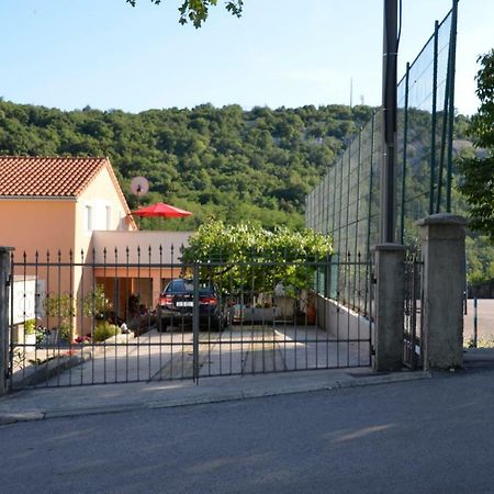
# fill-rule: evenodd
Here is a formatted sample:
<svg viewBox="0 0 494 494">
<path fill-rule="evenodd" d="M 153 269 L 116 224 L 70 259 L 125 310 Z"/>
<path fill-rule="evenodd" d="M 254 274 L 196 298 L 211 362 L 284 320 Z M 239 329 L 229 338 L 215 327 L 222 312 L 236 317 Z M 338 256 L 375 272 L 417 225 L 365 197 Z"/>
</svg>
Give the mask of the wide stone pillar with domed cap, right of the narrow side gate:
<svg viewBox="0 0 494 494">
<path fill-rule="evenodd" d="M 453 214 L 433 214 L 417 222 L 424 258 L 424 369 L 463 363 L 464 226 Z"/>
</svg>

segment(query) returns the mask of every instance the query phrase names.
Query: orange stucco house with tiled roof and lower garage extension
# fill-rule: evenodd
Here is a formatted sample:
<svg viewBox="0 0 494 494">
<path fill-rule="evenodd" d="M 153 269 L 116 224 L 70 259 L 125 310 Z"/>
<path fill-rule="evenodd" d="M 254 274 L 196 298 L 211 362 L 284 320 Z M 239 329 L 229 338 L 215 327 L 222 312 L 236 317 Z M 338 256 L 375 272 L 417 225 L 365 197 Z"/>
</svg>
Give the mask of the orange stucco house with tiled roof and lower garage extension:
<svg viewBox="0 0 494 494">
<path fill-rule="evenodd" d="M 130 266 L 137 247 L 162 251 L 154 265 L 170 262 L 171 245 L 187 244 L 190 233 L 139 232 L 108 158 L 0 156 L 0 245 L 15 248 L 14 276 L 35 277 L 37 299 L 66 293 L 77 302 L 103 285 L 125 317 L 130 294 L 151 305 L 178 276 L 162 266 L 145 269 L 144 256 L 143 267 Z M 36 314 L 45 317 L 41 305 Z M 72 333 L 86 332 L 79 319 L 72 317 Z"/>
</svg>

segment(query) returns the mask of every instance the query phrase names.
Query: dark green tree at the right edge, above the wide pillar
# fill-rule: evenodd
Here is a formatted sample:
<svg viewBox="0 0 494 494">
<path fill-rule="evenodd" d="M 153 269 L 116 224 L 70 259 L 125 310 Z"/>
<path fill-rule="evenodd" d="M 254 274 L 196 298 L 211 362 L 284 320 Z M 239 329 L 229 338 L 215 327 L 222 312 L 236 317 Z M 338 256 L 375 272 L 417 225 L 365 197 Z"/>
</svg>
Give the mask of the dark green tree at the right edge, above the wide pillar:
<svg viewBox="0 0 494 494">
<path fill-rule="evenodd" d="M 494 242 L 494 49 L 479 61 L 476 94 L 481 104 L 469 133 L 481 153 L 459 161 L 463 175 L 459 189 L 470 206 L 471 227 Z"/>
</svg>

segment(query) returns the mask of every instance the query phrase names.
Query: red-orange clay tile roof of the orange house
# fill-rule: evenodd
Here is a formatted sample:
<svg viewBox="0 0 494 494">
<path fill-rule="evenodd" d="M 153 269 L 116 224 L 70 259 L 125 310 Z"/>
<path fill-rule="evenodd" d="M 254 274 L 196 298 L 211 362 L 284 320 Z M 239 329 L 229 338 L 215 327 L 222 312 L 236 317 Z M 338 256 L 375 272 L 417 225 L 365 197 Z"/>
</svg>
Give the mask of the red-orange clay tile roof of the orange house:
<svg viewBox="0 0 494 494">
<path fill-rule="evenodd" d="M 0 156 L 0 197 L 77 198 L 105 166 L 114 177 L 108 158 Z"/>
</svg>

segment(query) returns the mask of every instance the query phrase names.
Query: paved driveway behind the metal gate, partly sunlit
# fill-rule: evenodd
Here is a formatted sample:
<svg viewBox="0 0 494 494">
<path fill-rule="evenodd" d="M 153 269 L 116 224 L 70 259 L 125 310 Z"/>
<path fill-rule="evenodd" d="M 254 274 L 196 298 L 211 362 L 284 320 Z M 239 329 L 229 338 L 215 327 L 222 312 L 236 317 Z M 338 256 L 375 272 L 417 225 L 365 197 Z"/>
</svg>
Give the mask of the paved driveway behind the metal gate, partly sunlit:
<svg viewBox="0 0 494 494">
<path fill-rule="evenodd" d="M 99 347 L 93 358 L 63 371 L 45 385 L 75 385 L 162 379 L 192 379 L 192 333 L 153 329 L 117 345 Z M 231 326 L 201 333 L 199 375 L 359 367 L 369 364 L 368 343 L 336 341 L 314 326 Z"/>
</svg>

